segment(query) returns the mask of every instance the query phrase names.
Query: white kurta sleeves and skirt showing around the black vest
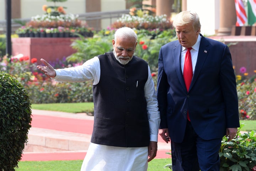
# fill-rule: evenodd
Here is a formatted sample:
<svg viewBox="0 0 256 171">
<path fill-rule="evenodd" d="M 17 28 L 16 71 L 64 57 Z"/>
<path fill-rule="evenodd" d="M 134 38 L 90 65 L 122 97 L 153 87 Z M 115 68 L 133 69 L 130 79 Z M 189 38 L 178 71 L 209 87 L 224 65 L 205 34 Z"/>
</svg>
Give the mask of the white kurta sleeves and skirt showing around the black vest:
<svg viewBox="0 0 256 171">
<path fill-rule="evenodd" d="M 100 61 L 94 57 L 83 65 L 55 70 L 56 81 L 84 82 L 93 79 L 100 81 Z M 158 141 L 160 114 L 154 82 L 148 67 L 148 80 L 144 92 L 150 128 L 150 141 Z M 148 168 L 148 147 L 124 148 L 91 143 L 81 171 L 146 171 Z"/>
</svg>

